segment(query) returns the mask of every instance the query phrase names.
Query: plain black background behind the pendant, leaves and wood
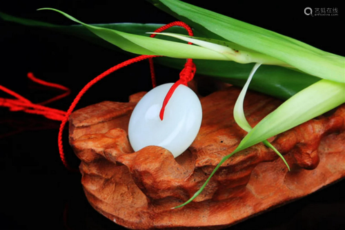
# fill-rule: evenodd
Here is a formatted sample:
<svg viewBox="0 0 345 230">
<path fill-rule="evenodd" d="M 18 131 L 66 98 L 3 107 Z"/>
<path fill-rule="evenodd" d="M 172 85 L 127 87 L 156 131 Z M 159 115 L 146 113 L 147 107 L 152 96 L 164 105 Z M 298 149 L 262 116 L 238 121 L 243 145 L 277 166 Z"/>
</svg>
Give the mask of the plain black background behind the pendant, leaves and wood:
<svg viewBox="0 0 345 230">
<path fill-rule="evenodd" d="M 340 3 L 248 3 L 246 1 L 187 1 L 256 26 L 299 39 L 322 50 L 345 55 L 344 15 Z M 169 23 L 175 21 L 146 1 L 1 1 L 0 11 L 17 17 L 68 25 L 56 12 L 63 10 L 86 23 Z M 304 8 L 337 8 L 337 17 L 310 17 Z M 91 79 L 130 58 L 57 32 L 0 21 L 0 84 L 32 102 L 57 91 L 31 83 L 28 72 L 72 89 L 53 108 L 67 110 L 72 99 Z M 178 70 L 156 66 L 157 82 L 177 80 Z M 118 70 L 91 88 L 77 108 L 112 100 L 126 102 L 128 95 L 150 90 L 148 63 Z M 8 97 L 0 93 L 0 97 Z M 88 204 L 79 173 L 61 164 L 57 148 L 59 122 L 39 115 L 10 113 L 0 108 L 0 229 L 121 229 Z M 68 146 L 66 155 L 77 167 L 79 160 Z M 344 164 L 344 162 L 339 162 Z M 306 198 L 246 220 L 230 229 L 345 229 L 345 182 L 337 182 Z"/>
</svg>

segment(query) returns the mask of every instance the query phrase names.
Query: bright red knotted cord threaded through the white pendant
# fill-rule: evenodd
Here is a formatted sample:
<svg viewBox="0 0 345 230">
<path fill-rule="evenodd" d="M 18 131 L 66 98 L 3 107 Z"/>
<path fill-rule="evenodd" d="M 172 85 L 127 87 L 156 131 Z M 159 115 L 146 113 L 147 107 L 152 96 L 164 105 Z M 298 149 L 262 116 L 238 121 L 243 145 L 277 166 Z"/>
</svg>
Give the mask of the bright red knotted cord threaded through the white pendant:
<svg viewBox="0 0 345 230">
<path fill-rule="evenodd" d="M 175 21 L 175 22 L 169 23 L 166 26 L 162 26 L 161 28 L 155 30 L 155 32 L 161 32 L 161 31 L 166 30 L 167 28 L 170 28 L 172 26 L 182 26 L 182 27 L 186 28 L 186 30 L 188 31 L 188 34 L 190 36 L 193 36 L 192 29 L 190 29 L 190 27 L 186 23 L 183 23 L 181 21 Z M 155 37 L 155 35 L 151 35 L 150 37 Z M 188 42 L 188 44 L 191 44 L 191 43 Z M 57 99 L 61 99 L 62 97 L 66 97 L 70 93 L 70 90 L 68 88 L 66 88 L 65 86 L 61 86 L 59 84 L 53 84 L 53 83 L 50 83 L 50 82 L 44 82 L 41 79 L 37 79 L 36 77 L 34 77 L 34 75 L 32 75 L 32 73 L 28 73 L 28 77 L 32 81 L 37 82 L 37 83 L 42 84 L 42 85 L 45 85 L 45 86 L 50 86 L 50 87 L 54 87 L 54 88 L 59 88 L 61 90 L 66 90 L 66 93 L 63 93 L 62 95 L 59 95 L 57 97 L 53 97 L 52 99 L 48 99 L 47 101 L 41 102 L 39 104 L 32 104 L 32 102 L 30 102 L 25 97 L 22 97 L 21 95 L 19 95 L 17 93 L 14 93 L 12 90 L 9 90 L 8 88 L 0 86 L 0 90 L 3 90 L 6 93 L 9 93 L 10 95 L 12 95 L 14 97 L 17 97 L 17 100 L 15 100 L 15 99 L 0 98 L 0 99 L 3 99 L 3 104 L 0 104 L 0 106 L 10 107 L 10 111 L 24 111 L 26 113 L 36 113 L 36 114 L 44 115 L 45 117 L 47 117 L 49 119 L 56 119 L 56 120 L 61 121 L 61 125 L 60 125 L 60 128 L 59 128 L 59 135 L 57 137 L 57 139 L 58 139 L 57 142 L 58 142 L 58 145 L 59 145 L 60 158 L 61 158 L 61 161 L 63 162 L 63 165 L 66 166 L 67 169 L 69 169 L 71 171 L 74 171 L 74 169 L 72 169 L 70 167 L 70 165 L 68 164 L 68 162 L 66 161 L 66 157 L 65 157 L 65 154 L 63 152 L 62 133 L 63 133 L 63 128 L 65 127 L 66 123 L 68 122 L 68 118 L 70 117 L 72 111 L 75 109 L 75 106 L 77 106 L 77 103 L 79 102 L 81 97 L 84 95 L 84 93 L 86 93 L 86 91 L 91 86 L 93 86 L 94 84 L 99 82 L 101 79 L 103 79 L 103 77 L 106 77 L 107 75 L 109 75 L 110 73 L 114 72 L 115 70 L 118 70 L 119 68 L 123 68 L 125 66 L 133 64 L 133 63 L 135 63 L 137 61 L 142 61 L 144 59 L 149 59 L 149 61 L 150 61 L 152 86 L 155 88 L 156 80 L 155 80 L 155 71 L 154 71 L 153 62 L 152 62 L 152 58 L 153 57 L 160 57 L 160 56 L 156 56 L 156 55 L 141 55 L 139 57 L 135 57 L 135 58 L 129 59 L 127 61 L 124 61 L 121 64 L 113 66 L 112 68 L 110 68 L 110 69 L 106 70 L 105 72 L 101 73 L 101 75 L 95 77 L 95 79 L 92 79 L 91 82 L 86 84 L 86 86 L 84 86 L 81 89 L 81 91 L 78 93 L 77 97 L 75 97 L 75 99 L 73 100 L 72 104 L 70 105 L 70 108 L 68 108 L 67 112 L 59 111 L 59 110 L 57 110 L 55 108 L 48 108 L 48 107 L 42 106 L 42 105 L 43 104 L 48 104 L 50 102 L 54 102 Z M 195 75 L 195 70 L 196 70 L 196 68 L 195 68 L 195 64 L 193 64 L 193 60 L 192 59 L 187 59 L 185 67 L 184 67 L 184 69 L 181 71 L 181 73 L 179 75 L 179 80 L 177 82 L 175 82 L 175 84 L 172 85 L 172 87 L 168 91 L 166 97 L 164 98 L 164 102 L 163 102 L 163 105 L 162 105 L 162 108 L 161 108 L 161 112 L 159 113 L 159 117 L 161 119 L 163 119 L 163 115 L 164 115 L 164 110 L 165 110 L 166 104 L 168 104 L 168 101 L 169 101 L 170 97 L 172 96 L 172 94 L 174 93 L 174 91 L 177 88 L 177 86 L 179 86 L 180 84 L 187 85 L 187 83 L 191 79 L 193 79 L 193 77 Z"/>
</svg>

